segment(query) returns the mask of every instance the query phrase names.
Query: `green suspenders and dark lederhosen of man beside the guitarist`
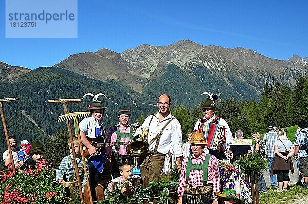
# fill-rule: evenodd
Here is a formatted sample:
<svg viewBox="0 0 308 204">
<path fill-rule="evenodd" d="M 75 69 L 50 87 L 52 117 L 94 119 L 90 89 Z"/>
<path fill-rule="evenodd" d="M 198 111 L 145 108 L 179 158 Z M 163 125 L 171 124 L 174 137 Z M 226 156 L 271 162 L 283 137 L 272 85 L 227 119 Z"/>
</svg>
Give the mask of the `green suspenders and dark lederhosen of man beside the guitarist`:
<svg viewBox="0 0 308 204">
<path fill-rule="evenodd" d="M 132 127 L 130 127 L 129 133 L 120 133 L 119 127 L 114 126 L 114 129 L 116 129 L 115 134 L 117 134 L 117 140 L 116 140 L 117 143 L 121 142 L 121 138 L 130 138 L 130 141 L 132 141 L 132 138 L 133 138 Z M 117 162 L 118 166 L 120 166 L 121 163 L 126 162 L 126 161 L 132 162 L 132 157 L 130 155 L 119 154 L 120 145 L 116 145 L 115 150 L 117 151 L 114 151 L 113 154 L 114 154 L 115 161 Z"/>
</svg>

